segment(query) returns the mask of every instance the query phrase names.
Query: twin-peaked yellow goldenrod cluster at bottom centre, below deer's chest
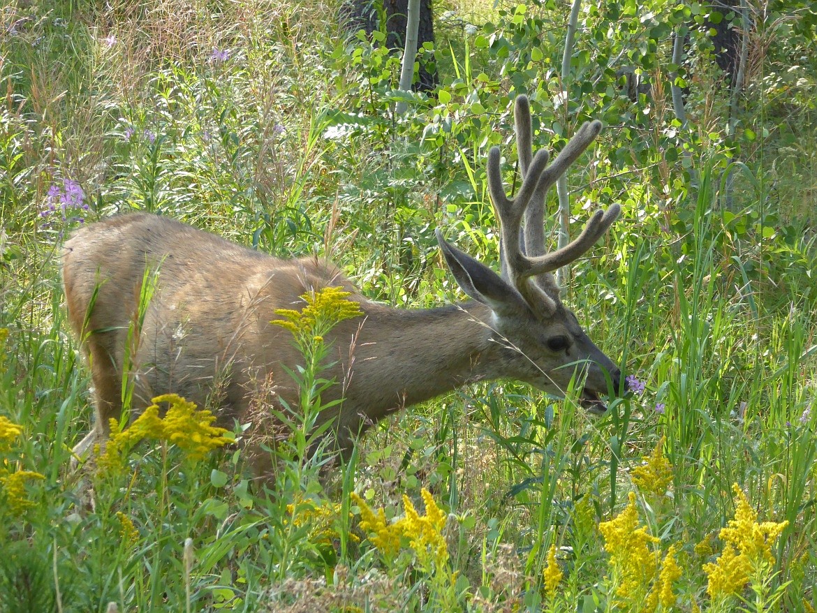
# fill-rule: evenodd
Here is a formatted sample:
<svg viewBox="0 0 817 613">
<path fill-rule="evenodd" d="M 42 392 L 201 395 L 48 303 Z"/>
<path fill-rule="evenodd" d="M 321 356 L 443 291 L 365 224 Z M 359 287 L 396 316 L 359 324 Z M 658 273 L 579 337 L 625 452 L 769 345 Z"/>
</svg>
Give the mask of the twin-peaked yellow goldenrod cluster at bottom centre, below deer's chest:
<svg viewBox="0 0 817 613">
<path fill-rule="evenodd" d="M 423 488 L 420 494 L 426 505 L 426 515 L 417 513 L 411 500 L 404 495 L 405 515 L 394 523 L 386 520 L 382 508 L 377 509 L 376 514 L 359 495 L 353 493 L 352 499 L 360 508 L 360 530 L 373 534 L 369 540 L 380 550 L 386 562 L 391 562 L 400 553 L 401 540 L 406 538 L 420 566 L 429 568 L 433 564 L 439 569 L 449 561 L 448 546 L 442 534 L 446 516 L 428 490 Z"/>
</svg>

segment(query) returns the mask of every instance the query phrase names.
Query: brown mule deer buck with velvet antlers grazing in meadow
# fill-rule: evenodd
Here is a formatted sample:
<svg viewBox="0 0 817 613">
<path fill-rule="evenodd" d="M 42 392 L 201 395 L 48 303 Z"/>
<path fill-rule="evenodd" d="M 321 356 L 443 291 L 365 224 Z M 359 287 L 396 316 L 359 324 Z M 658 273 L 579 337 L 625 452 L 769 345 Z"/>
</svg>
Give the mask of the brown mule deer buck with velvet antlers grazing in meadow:
<svg viewBox="0 0 817 613">
<path fill-rule="evenodd" d="M 301 356 L 288 330 L 270 320 L 279 318 L 276 309 L 302 306 L 302 294 L 338 285 L 364 311 L 364 317 L 337 324 L 326 339 L 337 362 L 325 376 L 345 385 L 324 392 L 324 401 L 343 394 L 343 402 L 319 419 L 334 420 L 342 451 L 387 414 L 485 379 L 520 379 L 564 396 L 571 379 L 583 378 L 582 405 L 605 410 L 600 396 L 621 392 L 621 373 L 560 302 L 551 273 L 592 248 L 620 209 L 596 211 L 581 235 L 551 253 L 543 219 L 548 188 L 600 129 L 600 122 L 585 123 L 548 166 L 547 152 L 533 155 L 531 149 L 528 100 L 517 99 L 523 180 L 515 198 L 502 186 L 497 147 L 488 158 L 490 195 L 502 226 L 502 275 L 437 230 L 445 262 L 471 298 L 448 307 L 385 307 L 360 295 L 328 262 L 276 259 L 151 214 L 111 217 L 78 230 L 65 244 L 62 274 L 69 320 L 91 365 L 96 425 L 75 453 L 105 441 L 109 419 L 120 418 L 123 377 L 133 382 L 134 414 L 168 392 L 205 405 L 219 382 L 213 412 L 218 423 L 233 427 L 248 417 L 253 388 L 266 377 L 274 378 L 288 406 L 296 406 L 298 390 L 285 368 L 294 369 Z M 137 313 L 141 285 L 152 270 L 158 270 L 154 294 Z M 126 360 L 129 327 L 139 339 Z M 262 459 L 253 463 L 262 475 L 270 468 Z"/>
</svg>

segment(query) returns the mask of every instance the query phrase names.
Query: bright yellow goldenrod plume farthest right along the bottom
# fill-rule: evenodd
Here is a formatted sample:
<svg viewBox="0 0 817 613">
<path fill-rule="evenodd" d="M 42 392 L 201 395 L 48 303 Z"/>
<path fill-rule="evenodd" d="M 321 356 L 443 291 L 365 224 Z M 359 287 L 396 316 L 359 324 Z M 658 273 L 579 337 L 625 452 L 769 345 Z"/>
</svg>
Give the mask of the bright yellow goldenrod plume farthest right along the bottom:
<svg viewBox="0 0 817 613">
<path fill-rule="evenodd" d="M 725 542 L 723 553 L 713 563 L 704 564 L 711 597 L 740 593 L 752 574 L 762 573 L 775 562 L 772 545 L 788 526 L 788 521 L 764 521 L 757 523 L 757 512 L 743 490 L 735 483 L 732 491 L 737 499 L 734 519 L 721 529 Z"/>
</svg>

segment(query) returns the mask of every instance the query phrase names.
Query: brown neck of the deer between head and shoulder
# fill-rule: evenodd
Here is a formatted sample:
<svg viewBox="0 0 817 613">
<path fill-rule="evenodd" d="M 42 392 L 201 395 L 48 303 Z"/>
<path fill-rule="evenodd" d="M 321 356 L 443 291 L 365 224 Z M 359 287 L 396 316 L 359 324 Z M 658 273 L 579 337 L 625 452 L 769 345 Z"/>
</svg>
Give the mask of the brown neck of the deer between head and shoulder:
<svg viewBox="0 0 817 613">
<path fill-rule="evenodd" d="M 406 311 L 368 311 L 351 367 L 346 403 L 377 420 L 493 372 L 491 311 L 479 302 Z"/>
</svg>

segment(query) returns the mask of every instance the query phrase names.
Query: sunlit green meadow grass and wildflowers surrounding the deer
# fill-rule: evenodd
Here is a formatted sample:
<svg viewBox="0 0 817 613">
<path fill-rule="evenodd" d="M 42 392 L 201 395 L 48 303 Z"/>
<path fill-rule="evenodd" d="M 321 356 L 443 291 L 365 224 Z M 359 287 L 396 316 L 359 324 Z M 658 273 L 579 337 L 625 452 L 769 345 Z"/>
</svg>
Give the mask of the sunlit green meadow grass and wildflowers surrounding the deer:
<svg viewBox="0 0 817 613">
<path fill-rule="evenodd" d="M 436 7 L 421 60 L 440 86 L 407 95 L 400 56 L 336 0 L 0 2 L 0 613 L 814 611 L 813 7 L 748 2 L 735 104 L 707 7 L 587 5 L 564 82 L 565 3 Z M 450 302 L 434 230 L 496 267 L 484 166 L 501 145 L 519 185 L 520 93 L 538 146 L 606 126 L 570 171 L 574 231 L 599 204 L 623 214 L 563 289 L 630 378 L 604 416 L 574 390 L 481 383 L 327 469 L 324 335 L 355 316 L 330 292 L 285 314 L 304 363 L 279 376 L 303 393 L 272 415 L 274 485 L 234 441 L 270 417 L 275 382 L 228 431 L 163 391 L 71 467 L 92 425 L 60 289 L 72 230 L 150 211 L 328 254 L 395 307 Z"/>
</svg>

